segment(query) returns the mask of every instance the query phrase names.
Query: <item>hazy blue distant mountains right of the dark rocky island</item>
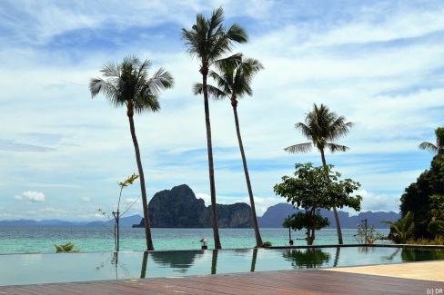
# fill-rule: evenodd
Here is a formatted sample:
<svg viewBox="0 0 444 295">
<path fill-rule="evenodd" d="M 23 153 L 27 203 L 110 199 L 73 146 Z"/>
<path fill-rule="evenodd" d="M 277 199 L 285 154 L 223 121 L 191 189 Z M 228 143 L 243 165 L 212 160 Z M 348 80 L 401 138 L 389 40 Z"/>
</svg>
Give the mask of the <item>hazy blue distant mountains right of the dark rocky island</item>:
<svg viewBox="0 0 444 295">
<path fill-rule="evenodd" d="M 288 218 L 288 215 L 296 213 L 297 210 L 289 203 L 278 203 L 267 209 L 262 217 L 257 217 L 257 223 L 260 228 L 281 228 L 282 222 Z M 336 229 L 335 217 L 333 211 L 321 209 L 321 215 L 327 217 L 330 221 L 330 229 Z M 385 228 L 387 225 L 380 221 L 398 221 L 401 217 L 400 213 L 390 212 L 359 212 L 358 215 L 349 216 L 348 212 L 338 211 L 339 222 L 343 229 L 356 229 L 361 221 L 367 219 L 368 226 L 375 228 Z"/>
</svg>

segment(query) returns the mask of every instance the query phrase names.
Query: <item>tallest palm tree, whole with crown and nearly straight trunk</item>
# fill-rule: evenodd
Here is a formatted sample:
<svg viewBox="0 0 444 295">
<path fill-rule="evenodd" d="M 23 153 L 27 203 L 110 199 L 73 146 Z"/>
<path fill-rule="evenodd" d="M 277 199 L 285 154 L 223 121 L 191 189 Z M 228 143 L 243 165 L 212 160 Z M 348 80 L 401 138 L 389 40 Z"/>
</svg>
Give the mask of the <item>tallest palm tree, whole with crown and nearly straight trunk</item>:
<svg viewBox="0 0 444 295">
<path fill-rule="evenodd" d="M 213 166 L 213 147 L 211 143 L 211 125 L 209 121 L 207 75 L 209 67 L 214 64 L 224 54 L 231 51 L 233 42 L 247 42 L 247 33 L 239 25 L 231 25 L 226 29 L 224 21 L 224 10 L 222 7 L 214 10 L 209 19 L 198 14 L 196 25 L 191 30 L 182 28 L 182 39 L 187 45 L 187 53 L 196 56 L 200 61 L 199 72 L 202 74 L 202 89 L 204 93 L 205 123 L 207 128 L 207 151 L 208 151 L 208 172 L 211 192 L 211 211 L 213 215 L 213 233 L 215 238 L 215 249 L 222 249 L 217 226 L 216 208 L 216 186 Z"/>
</svg>

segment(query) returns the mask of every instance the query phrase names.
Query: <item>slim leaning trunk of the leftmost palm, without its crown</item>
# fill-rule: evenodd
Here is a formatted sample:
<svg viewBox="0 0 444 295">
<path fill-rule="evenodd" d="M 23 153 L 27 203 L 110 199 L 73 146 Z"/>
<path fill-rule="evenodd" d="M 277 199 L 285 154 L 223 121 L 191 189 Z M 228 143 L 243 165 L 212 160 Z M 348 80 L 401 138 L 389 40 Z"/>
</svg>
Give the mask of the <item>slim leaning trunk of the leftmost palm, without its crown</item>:
<svg viewBox="0 0 444 295">
<path fill-rule="evenodd" d="M 151 228 L 149 227 L 149 216 L 148 216 L 148 203 L 146 202 L 146 188 L 145 188 L 145 176 L 144 169 L 142 168 L 142 161 L 140 160 L 140 151 L 136 138 L 136 129 L 134 127 L 133 114 L 128 111 L 129 119 L 129 129 L 131 130 L 131 137 L 133 138 L 134 149 L 136 151 L 136 162 L 137 169 L 140 176 L 140 190 L 142 191 L 142 205 L 144 210 L 144 221 L 145 221 L 145 236 L 146 236 L 146 250 L 153 251 L 153 240 L 151 239 Z"/>
</svg>

